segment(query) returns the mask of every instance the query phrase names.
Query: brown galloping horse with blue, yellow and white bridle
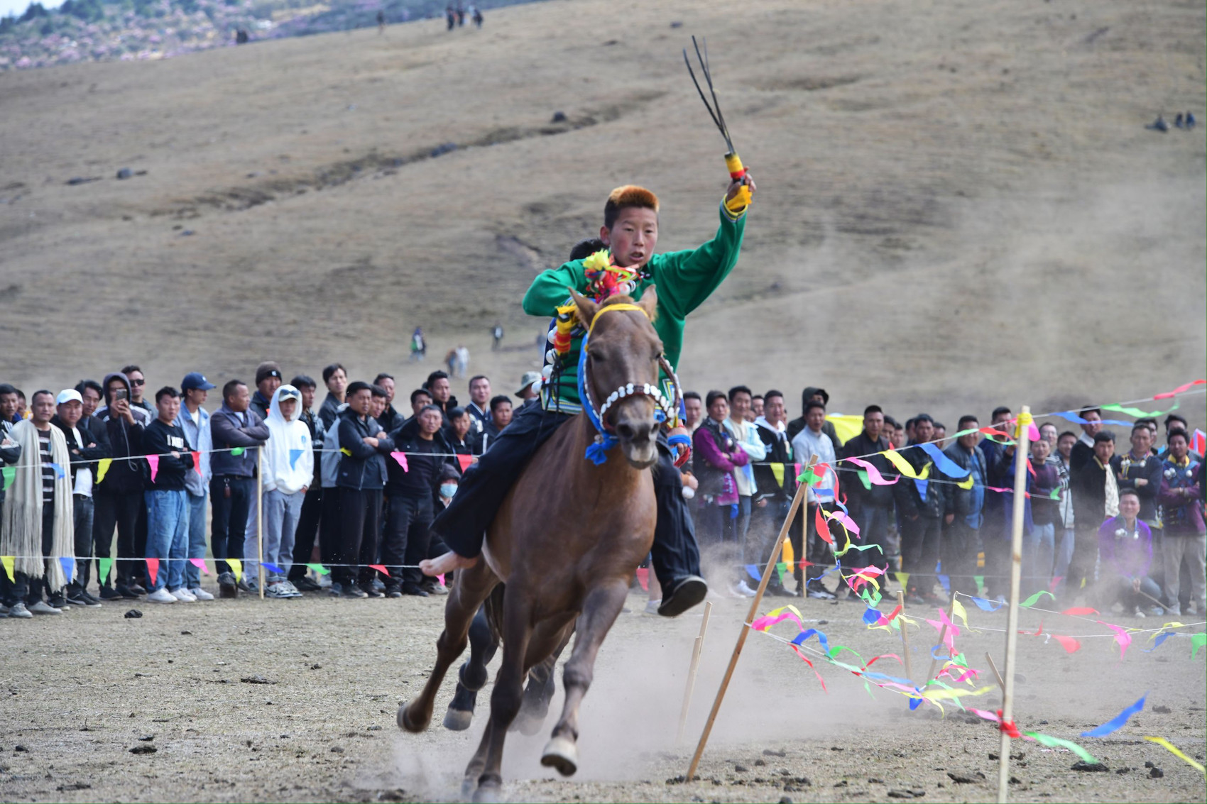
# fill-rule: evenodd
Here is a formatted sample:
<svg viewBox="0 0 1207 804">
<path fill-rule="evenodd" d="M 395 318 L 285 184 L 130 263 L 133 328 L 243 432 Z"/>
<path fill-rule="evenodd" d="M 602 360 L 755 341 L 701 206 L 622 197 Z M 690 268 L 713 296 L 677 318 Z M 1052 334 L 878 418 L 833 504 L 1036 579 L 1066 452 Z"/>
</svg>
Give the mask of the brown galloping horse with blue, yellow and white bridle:
<svg viewBox="0 0 1207 804">
<path fill-rule="evenodd" d="M 444 674 L 465 651 L 470 623 L 496 584 L 507 584 L 500 618 L 503 659 L 490 695 L 490 719 L 466 768 L 474 800 L 495 800 L 507 728 L 520 709 L 530 668 L 548 657 L 578 623 L 562 676 L 566 703 L 541 764 L 568 776 L 578 768 L 578 706 L 591 683 L 595 656 L 624 606 L 629 582 L 654 538 L 657 503 L 649 467 L 658 456 L 664 397 L 658 384 L 663 345 L 651 320 L 653 286 L 641 302 L 617 296 L 602 304 L 573 293 L 589 331 L 583 385 L 606 409 L 618 449 L 585 460 L 597 432 L 578 414 L 547 441 L 495 515 L 483 559 L 457 572 L 444 608 L 436 666 L 418 698 L 398 710 L 408 732 L 427 728 Z M 613 391 L 613 389 L 616 389 Z M 590 400 L 583 400 L 591 404 Z M 619 454 L 618 454 L 619 453 Z M 622 460 L 623 458 L 623 460 Z"/>
</svg>

